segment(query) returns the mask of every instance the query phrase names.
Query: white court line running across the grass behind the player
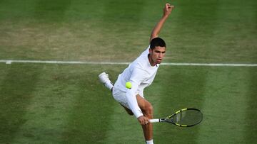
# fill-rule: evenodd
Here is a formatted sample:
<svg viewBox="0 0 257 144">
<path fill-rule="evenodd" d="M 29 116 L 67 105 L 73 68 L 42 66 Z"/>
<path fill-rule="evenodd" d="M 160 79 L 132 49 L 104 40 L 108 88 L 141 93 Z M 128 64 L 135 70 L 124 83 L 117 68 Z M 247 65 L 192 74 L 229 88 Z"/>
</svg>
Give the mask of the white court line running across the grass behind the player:
<svg viewBox="0 0 257 144">
<path fill-rule="evenodd" d="M 91 65 L 129 65 L 130 62 L 83 62 L 83 61 L 55 61 L 55 60 L 0 60 L 6 64 L 11 63 L 44 63 L 44 64 L 91 64 Z M 168 63 L 161 65 L 176 66 L 210 66 L 210 67 L 257 67 L 257 64 L 235 64 L 235 63 Z"/>
</svg>

